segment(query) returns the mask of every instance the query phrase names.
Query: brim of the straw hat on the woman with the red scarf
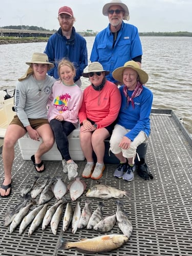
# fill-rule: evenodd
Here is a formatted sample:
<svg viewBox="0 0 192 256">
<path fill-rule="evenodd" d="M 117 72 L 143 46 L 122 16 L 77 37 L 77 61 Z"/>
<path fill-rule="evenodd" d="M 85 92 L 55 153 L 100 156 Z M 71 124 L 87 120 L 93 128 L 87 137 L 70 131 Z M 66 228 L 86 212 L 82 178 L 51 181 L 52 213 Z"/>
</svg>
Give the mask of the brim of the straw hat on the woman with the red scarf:
<svg viewBox="0 0 192 256">
<path fill-rule="evenodd" d="M 144 84 L 148 81 L 148 75 L 142 69 L 137 69 L 132 66 L 120 67 L 113 71 L 112 76 L 115 80 L 123 83 L 123 71 L 127 68 L 135 70 L 139 75 L 139 81 Z"/>
</svg>

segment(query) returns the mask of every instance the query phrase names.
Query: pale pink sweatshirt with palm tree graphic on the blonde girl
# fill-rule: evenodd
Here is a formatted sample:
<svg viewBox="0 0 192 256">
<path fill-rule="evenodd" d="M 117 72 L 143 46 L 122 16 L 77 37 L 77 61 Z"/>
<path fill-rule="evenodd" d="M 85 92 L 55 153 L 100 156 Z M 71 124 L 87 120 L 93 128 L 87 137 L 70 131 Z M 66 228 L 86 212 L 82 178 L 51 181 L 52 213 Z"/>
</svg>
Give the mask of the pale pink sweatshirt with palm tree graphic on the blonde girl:
<svg viewBox="0 0 192 256">
<path fill-rule="evenodd" d="M 78 112 L 82 104 L 83 92 L 74 84 L 66 86 L 61 81 L 55 81 L 52 94 L 48 100 L 48 120 L 49 122 L 56 115 L 61 114 L 65 121 L 72 122 L 78 126 Z"/>
</svg>

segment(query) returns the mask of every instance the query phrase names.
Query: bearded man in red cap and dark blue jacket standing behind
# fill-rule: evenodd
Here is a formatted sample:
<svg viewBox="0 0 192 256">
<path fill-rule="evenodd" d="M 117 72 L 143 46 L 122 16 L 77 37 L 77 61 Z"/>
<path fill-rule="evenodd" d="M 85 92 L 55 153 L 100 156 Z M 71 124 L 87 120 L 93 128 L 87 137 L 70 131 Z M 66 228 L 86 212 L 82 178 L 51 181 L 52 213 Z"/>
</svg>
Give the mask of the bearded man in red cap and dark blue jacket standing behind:
<svg viewBox="0 0 192 256">
<path fill-rule="evenodd" d="M 84 68 L 88 66 L 86 39 L 75 32 L 75 28 L 73 27 L 75 17 L 70 7 L 63 6 L 59 8 L 58 20 L 60 28 L 49 38 L 44 51 L 48 55 L 49 61 L 55 65 L 48 74 L 58 79 L 58 62 L 65 57 L 73 62 L 76 68 L 74 82 L 81 87 L 80 77 Z"/>
</svg>

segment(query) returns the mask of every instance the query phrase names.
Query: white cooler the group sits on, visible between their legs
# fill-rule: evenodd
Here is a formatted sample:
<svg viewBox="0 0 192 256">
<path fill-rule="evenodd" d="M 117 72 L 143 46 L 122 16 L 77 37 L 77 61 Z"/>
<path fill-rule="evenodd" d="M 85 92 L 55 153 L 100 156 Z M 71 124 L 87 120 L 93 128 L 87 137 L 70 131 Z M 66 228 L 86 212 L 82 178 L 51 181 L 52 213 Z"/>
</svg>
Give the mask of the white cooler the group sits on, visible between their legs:
<svg viewBox="0 0 192 256">
<path fill-rule="evenodd" d="M 81 150 L 80 140 L 79 140 L 79 127 L 75 129 L 69 136 L 69 153 L 73 160 L 76 161 L 83 161 L 84 155 Z M 20 148 L 20 152 L 22 153 L 22 157 L 24 160 L 31 160 L 31 156 L 35 154 L 40 141 L 32 140 L 28 133 L 25 136 L 18 139 L 18 144 Z M 44 154 L 41 157 L 42 160 L 62 160 L 60 152 L 57 149 L 56 142 L 54 143 L 53 147 L 50 151 Z"/>
</svg>

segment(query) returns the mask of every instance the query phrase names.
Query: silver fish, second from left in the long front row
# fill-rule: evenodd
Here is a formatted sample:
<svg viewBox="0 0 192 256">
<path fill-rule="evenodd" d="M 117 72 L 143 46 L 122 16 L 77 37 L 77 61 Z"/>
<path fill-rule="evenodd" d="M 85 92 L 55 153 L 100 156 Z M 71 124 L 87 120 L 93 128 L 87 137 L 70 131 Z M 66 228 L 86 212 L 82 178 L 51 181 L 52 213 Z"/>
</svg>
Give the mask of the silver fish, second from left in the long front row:
<svg viewBox="0 0 192 256">
<path fill-rule="evenodd" d="M 11 222 L 10 233 L 12 233 L 15 230 L 15 228 L 22 222 L 23 218 L 27 215 L 29 209 L 34 204 L 36 204 L 36 202 L 33 200 L 28 205 L 19 210 L 18 214 L 14 217 L 14 219 Z"/>
</svg>

